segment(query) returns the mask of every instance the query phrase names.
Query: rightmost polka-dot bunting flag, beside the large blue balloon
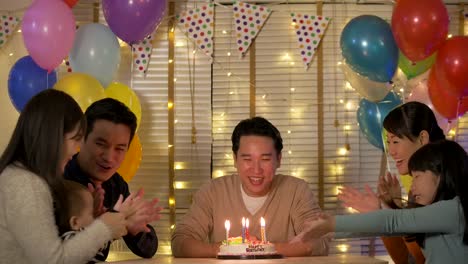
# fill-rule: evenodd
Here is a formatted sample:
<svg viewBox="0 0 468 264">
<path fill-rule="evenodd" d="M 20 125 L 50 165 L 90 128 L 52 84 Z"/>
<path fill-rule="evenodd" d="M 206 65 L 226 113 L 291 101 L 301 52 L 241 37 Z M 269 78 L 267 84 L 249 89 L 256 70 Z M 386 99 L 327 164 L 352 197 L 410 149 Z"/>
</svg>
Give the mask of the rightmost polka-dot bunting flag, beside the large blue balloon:
<svg viewBox="0 0 468 264">
<path fill-rule="evenodd" d="M 292 23 L 296 31 L 299 50 L 301 51 L 302 62 L 306 69 L 317 50 L 320 40 L 330 22 L 329 17 L 302 15 L 291 13 Z"/>
</svg>

